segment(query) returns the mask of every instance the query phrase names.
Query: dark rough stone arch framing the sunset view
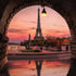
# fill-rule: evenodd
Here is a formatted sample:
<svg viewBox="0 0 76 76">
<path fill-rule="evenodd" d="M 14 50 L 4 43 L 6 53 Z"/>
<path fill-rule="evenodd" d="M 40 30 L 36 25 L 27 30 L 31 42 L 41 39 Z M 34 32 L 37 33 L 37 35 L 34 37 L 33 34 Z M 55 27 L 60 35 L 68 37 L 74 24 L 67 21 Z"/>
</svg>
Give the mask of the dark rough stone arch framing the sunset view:
<svg viewBox="0 0 76 76">
<path fill-rule="evenodd" d="M 10 0 L 5 3 L 5 8 L 3 9 L 3 13 L 0 20 L 0 48 L 1 48 L 1 63 L 7 63 L 5 56 L 7 56 L 7 43 L 8 38 L 5 36 L 8 25 L 11 21 L 11 18 L 14 16 L 15 13 L 17 13 L 20 10 L 30 7 L 30 5 L 47 5 L 49 8 L 52 8 L 56 12 L 59 12 L 67 22 L 71 35 L 72 35 L 72 41 L 71 41 L 71 48 L 72 48 L 72 55 L 75 59 L 76 58 L 76 22 L 75 16 L 75 2 L 72 0 Z M 73 10 L 73 11 L 72 11 Z M 3 49 L 4 48 L 4 49 Z M 5 59 L 4 59 L 5 58 Z M 3 67 L 4 64 L 0 64 L 0 67 Z"/>
</svg>

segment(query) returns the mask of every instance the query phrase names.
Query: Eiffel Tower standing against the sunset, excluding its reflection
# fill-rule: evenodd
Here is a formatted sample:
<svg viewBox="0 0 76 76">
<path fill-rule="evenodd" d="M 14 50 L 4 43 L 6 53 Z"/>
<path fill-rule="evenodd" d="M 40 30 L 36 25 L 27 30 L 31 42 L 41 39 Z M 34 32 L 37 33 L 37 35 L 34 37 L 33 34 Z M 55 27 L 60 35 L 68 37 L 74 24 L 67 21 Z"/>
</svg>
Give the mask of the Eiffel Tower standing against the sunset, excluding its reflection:
<svg viewBox="0 0 76 76">
<path fill-rule="evenodd" d="M 42 40 L 45 39 L 41 33 L 41 27 L 40 27 L 40 9 L 38 9 L 38 23 L 37 23 L 37 29 L 36 29 L 36 36 L 34 38 L 35 40 Z"/>
</svg>

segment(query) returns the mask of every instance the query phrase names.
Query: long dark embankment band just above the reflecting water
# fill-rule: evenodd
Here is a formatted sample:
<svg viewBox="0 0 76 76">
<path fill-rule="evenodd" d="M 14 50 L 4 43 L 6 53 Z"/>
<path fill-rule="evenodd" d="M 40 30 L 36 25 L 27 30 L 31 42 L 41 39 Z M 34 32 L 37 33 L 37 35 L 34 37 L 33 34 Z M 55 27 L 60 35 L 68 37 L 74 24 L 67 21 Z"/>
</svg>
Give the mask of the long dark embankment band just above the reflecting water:
<svg viewBox="0 0 76 76">
<path fill-rule="evenodd" d="M 71 59 L 71 52 L 24 52 L 8 53 L 9 60 L 67 60 Z"/>
</svg>

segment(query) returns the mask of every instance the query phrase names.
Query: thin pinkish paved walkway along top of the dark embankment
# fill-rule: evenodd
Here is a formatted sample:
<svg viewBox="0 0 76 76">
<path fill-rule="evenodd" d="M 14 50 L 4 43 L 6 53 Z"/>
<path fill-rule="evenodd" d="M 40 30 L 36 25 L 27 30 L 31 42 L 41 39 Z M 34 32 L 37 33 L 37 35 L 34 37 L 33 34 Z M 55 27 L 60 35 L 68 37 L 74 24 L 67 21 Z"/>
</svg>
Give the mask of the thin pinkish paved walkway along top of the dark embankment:
<svg viewBox="0 0 76 76">
<path fill-rule="evenodd" d="M 9 50 L 8 51 L 9 54 L 60 54 L 60 53 L 71 53 L 71 51 L 47 51 L 47 50 L 42 50 L 42 52 L 21 52 L 21 51 L 16 51 L 16 50 Z"/>
</svg>

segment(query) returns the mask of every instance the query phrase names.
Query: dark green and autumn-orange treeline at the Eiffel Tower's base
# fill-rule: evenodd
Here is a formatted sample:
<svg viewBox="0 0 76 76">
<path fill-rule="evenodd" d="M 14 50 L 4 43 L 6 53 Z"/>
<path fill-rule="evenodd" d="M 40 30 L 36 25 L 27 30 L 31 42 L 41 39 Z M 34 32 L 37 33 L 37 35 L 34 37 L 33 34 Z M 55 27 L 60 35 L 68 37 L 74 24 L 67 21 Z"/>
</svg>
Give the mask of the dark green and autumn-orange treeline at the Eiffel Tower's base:
<svg viewBox="0 0 76 76">
<path fill-rule="evenodd" d="M 46 39 L 43 40 L 31 40 L 30 41 L 30 46 L 39 46 L 39 47 L 60 47 L 62 43 L 69 43 L 71 41 L 71 37 L 63 37 L 63 38 L 55 38 L 55 37 L 51 37 L 48 36 Z M 24 40 L 23 42 L 21 42 L 21 46 L 27 46 L 29 43 L 28 40 Z"/>
</svg>

